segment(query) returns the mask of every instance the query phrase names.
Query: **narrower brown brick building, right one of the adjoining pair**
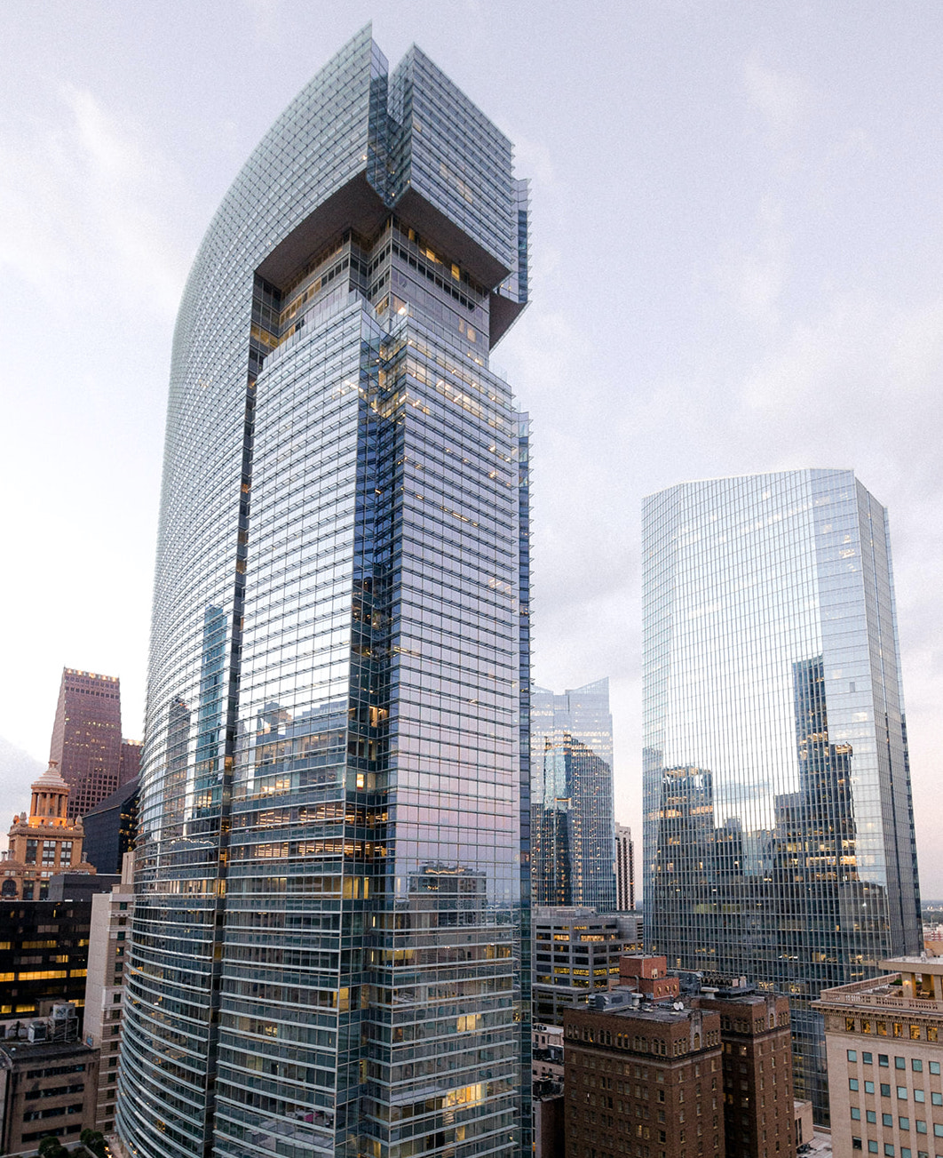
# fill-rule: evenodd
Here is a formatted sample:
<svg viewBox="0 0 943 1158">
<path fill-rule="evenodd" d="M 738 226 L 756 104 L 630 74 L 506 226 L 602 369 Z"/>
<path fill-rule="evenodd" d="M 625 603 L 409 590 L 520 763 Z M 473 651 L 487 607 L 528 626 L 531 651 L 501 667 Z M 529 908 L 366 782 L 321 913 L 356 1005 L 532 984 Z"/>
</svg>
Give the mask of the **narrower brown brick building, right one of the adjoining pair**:
<svg viewBox="0 0 943 1158">
<path fill-rule="evenodd" d="M 795 1153 L 789 1001 L 772 994 L 699 997 L 721 1018 L 727 1158 Z"/>
</svg>

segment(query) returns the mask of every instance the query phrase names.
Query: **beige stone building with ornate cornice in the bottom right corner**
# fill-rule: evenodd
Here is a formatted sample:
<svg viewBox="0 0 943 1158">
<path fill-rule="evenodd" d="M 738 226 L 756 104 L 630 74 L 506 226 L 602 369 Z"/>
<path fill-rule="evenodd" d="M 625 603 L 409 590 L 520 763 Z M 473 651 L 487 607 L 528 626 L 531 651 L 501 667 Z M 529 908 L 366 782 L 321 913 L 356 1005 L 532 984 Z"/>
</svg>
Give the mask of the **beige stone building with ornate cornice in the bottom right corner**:
<svg viewBox="0 0 943 1158">
<path fill-rule="evenodd" d="M 943 961 L 881 962 L 870 981 L 824 990 L 832 1149 L 885 1158 L 943 1150 Z M 891 970 L 891 972 L 886 972 Z"/>
</svg>

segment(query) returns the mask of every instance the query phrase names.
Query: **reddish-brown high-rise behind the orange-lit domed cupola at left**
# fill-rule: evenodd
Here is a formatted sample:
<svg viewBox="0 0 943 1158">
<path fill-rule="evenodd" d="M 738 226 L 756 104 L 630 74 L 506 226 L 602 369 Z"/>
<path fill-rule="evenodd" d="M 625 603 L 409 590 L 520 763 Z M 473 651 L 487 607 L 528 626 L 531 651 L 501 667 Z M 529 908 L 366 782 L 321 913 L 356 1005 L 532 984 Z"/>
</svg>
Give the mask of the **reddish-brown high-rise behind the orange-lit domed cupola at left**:
<svg viewBox="0 0 943 1158">
<path fill-rule="evenodd" d="M 118 787 L 121 684 L 116 676 L 62 668 L 49 758 L 72 790 L 69 816 L 83 816 Z"/>
</svg>

